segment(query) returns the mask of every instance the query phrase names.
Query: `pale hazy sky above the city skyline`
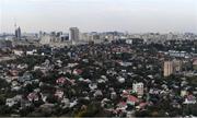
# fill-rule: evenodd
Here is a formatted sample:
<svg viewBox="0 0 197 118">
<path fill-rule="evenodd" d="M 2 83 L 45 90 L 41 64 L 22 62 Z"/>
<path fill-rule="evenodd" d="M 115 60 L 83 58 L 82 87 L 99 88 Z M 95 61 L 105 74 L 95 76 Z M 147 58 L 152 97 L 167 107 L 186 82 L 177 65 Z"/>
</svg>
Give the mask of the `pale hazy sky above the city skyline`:
<svg viewBox="0 0 197 118">
<path fill-rule="evenodd" d="M 0 33 L 128 31 L 197 33 L 197 0 L 0 0 Z"/>
</svg>

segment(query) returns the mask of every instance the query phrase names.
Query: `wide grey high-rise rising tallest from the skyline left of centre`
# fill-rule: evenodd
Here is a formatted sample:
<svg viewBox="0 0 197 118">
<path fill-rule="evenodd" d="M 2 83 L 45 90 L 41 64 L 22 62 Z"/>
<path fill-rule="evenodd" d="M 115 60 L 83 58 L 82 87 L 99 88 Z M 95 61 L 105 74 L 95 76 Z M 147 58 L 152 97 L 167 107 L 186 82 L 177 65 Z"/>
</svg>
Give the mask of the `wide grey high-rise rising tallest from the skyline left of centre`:
<svg viewBox="0 0 197 118">
<path fill-rule="evenodd" d="M 78 27 L 70 27 L 70 40 L 79 40 L 79 28 Z"/>
</svg>

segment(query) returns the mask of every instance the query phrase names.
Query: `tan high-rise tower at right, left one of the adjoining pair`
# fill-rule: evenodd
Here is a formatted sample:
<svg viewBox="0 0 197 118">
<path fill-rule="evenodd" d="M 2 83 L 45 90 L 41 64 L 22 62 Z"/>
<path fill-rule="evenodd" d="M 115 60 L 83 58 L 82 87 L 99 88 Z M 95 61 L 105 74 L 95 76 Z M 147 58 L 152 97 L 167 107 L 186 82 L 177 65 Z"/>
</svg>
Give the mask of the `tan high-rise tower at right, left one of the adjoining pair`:
<svg viewBox="0 0 197 118">
<path fill-rule="evenodd" d="M 172 61 L 164 61 L 163 75 L 169 76 L 171 74 L 173 74 L 173 62 Z"/>
</svg>

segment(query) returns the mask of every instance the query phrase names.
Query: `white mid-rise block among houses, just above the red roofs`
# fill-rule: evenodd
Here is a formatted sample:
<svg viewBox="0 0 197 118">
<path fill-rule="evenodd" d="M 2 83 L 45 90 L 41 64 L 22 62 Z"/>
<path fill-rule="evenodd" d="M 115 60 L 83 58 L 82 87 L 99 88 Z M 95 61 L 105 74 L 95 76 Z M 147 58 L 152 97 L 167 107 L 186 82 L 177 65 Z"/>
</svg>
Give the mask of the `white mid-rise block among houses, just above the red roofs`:
<svg viewBox="0 0 197 118">
<path fill-rule="evenodd" d="M 143 83 L 132 83 L 132 92 L 137 93 L 138 96 L 143 95 Z"/>
</svg>

